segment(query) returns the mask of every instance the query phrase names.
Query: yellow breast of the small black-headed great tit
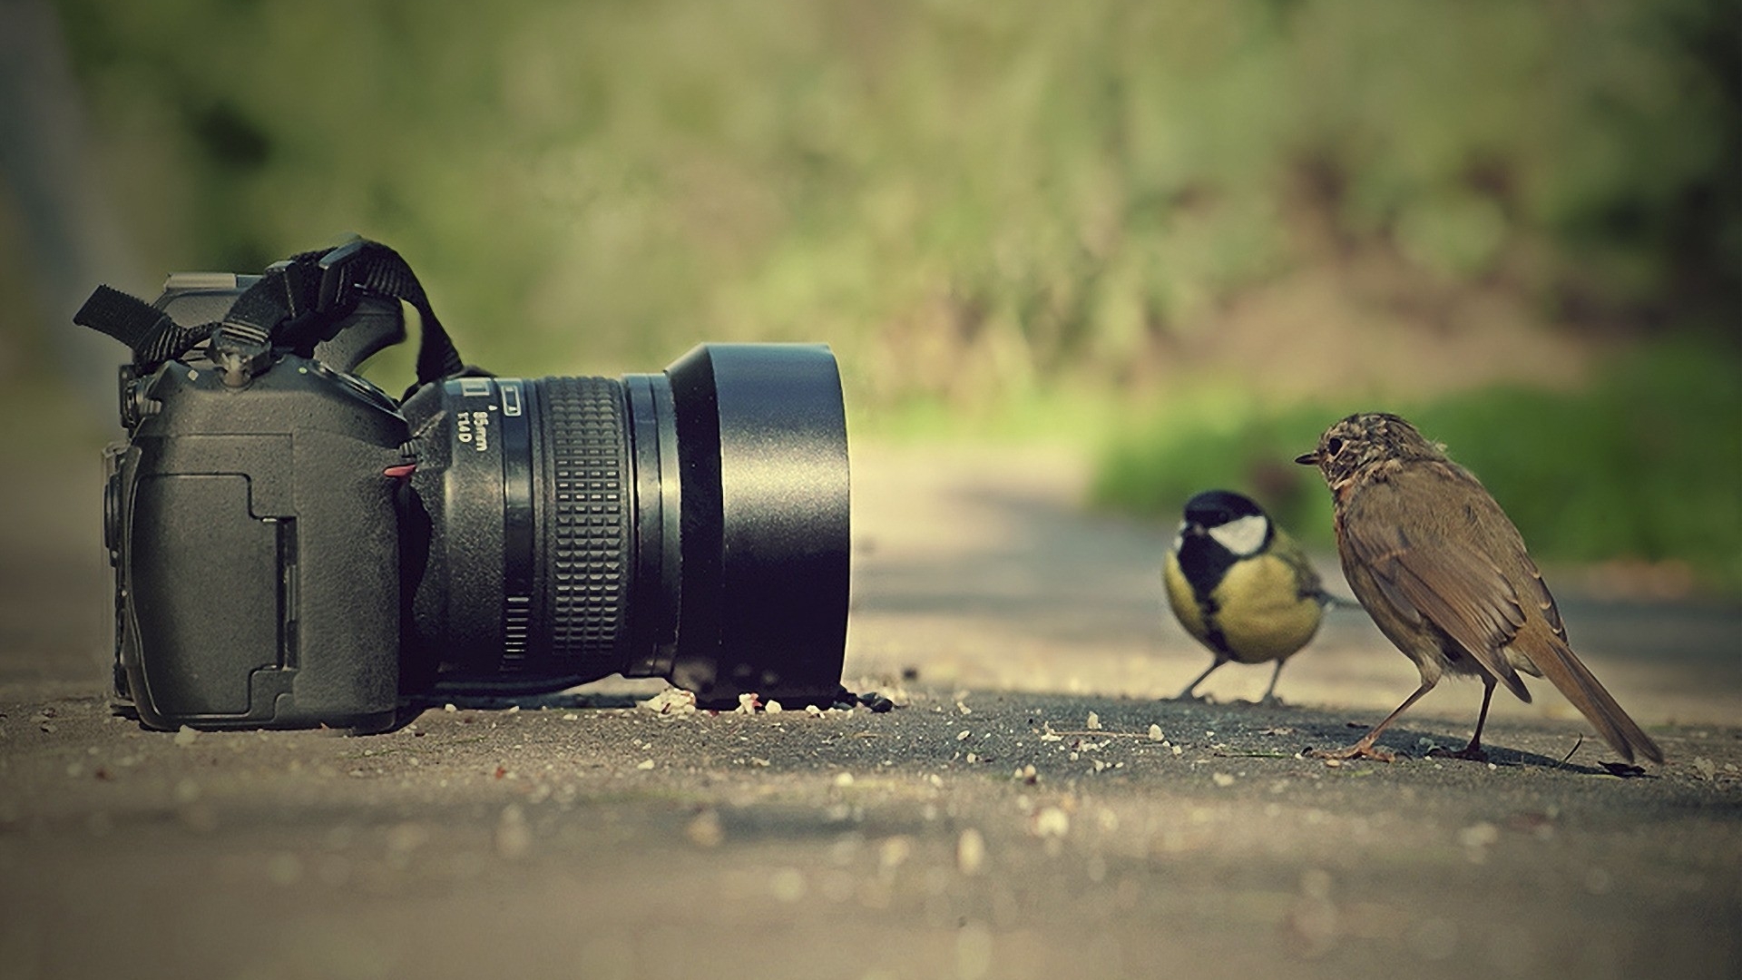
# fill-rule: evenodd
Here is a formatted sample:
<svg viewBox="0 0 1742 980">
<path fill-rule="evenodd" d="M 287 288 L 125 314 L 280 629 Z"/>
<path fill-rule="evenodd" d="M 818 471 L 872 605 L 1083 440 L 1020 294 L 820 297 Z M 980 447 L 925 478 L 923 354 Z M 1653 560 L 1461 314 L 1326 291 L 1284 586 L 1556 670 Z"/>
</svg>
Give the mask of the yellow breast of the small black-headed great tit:
<svg viewBox="0 0 1742 980">
<path fill-rule="evenodd" d="M 1235 561 L 1212 593 L 1233 659 L 1265 663 L 1305 647 L 1324 610 L 1317 596 L 1301 591 L 1300 574 L 1277 555 Z"/>
</svg>

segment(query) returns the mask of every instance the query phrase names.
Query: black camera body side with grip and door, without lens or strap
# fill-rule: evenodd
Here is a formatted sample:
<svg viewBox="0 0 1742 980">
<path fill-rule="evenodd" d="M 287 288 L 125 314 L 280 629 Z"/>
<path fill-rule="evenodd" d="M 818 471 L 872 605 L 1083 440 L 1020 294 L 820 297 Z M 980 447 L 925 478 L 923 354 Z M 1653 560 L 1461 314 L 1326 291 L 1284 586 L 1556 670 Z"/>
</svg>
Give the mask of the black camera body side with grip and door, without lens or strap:
<svg viewBox="0 0 1742 980">
<path fill-rule="evenodd" d="M 179 361 L 118 453 L 118 657 L 150 727 L 381 731 L 399 708 L 404 420 L 312 361 Z"/>
</svg>

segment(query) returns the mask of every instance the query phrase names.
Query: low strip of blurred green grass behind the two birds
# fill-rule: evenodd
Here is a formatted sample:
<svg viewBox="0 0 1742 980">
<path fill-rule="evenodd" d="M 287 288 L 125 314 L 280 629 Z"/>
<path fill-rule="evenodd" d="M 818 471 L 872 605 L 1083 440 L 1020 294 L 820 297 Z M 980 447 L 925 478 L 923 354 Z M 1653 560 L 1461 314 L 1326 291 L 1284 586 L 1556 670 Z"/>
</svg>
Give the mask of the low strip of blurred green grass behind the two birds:
<svg viewBox="0 0 1742 980">
<path fill-rule="evenodd" d="M 1094 497 L 1172 521 L 1198 490 L 1226 487 L 1331 548 L 1331 495 L 1293 459 L 1348 413 L 1397 412 L 1475 473 L 1538 560 L 1685 561 L 1700 584 L 1742 595 L 1739 377 L 1735 350 L 1671 340 L 1611 359 L 1577 394 L 1495 387 L 1421 405 L 1176 408 L 1110 439 Z"/>
</svg>

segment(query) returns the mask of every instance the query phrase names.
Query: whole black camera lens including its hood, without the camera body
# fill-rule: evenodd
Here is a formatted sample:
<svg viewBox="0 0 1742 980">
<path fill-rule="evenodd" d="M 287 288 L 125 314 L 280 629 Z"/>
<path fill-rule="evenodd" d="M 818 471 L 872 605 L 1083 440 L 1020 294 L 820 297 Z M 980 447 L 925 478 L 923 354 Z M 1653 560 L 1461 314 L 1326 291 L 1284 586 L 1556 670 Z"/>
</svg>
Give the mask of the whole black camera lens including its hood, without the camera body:
<svg viewBox="0 0 1742 980">
<path fill-rule="evenodd" d="M 709 344 L 622 380 L 449 378 L 404 413 L 402 687 L 838 691 L 848 474 L 827 347 Z"/>
</svg>

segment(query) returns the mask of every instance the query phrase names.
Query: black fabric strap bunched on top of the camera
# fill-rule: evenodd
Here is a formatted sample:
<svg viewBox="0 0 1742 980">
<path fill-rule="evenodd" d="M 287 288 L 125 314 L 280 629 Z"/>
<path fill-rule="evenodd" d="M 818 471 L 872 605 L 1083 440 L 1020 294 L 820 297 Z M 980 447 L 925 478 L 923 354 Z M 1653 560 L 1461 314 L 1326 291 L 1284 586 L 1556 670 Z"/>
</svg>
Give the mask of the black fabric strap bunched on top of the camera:
<svg viewBox="0 0 1742 980">
<path fill-rule="evenodd" d="M 73 323 L 125 344 L 141 371 L 155 371 L 164 361 L 209 342 L 211 361 L 232 384 L 242 384 L 270 361 L 273 350 L 312 357 L 317 344 L 333 340 L 345 328 L 364 296 L 401 300 L 418 310 L 423 323 L 413 387 L 465 370 L 416 274 L 397 251 L 368 239 L 273 263 L 237 296 L 221 323 L 181 326 L 145 300 L 108 286 L 91 293 Z M 397 337 L 366 340 L 362 349 L 373 352 L 394 340 Z"/>
</svg>

